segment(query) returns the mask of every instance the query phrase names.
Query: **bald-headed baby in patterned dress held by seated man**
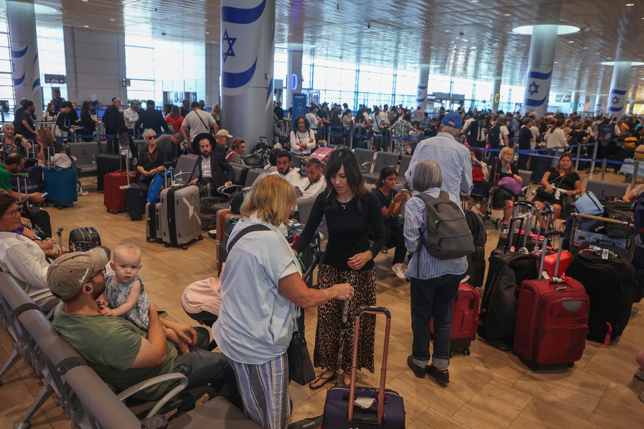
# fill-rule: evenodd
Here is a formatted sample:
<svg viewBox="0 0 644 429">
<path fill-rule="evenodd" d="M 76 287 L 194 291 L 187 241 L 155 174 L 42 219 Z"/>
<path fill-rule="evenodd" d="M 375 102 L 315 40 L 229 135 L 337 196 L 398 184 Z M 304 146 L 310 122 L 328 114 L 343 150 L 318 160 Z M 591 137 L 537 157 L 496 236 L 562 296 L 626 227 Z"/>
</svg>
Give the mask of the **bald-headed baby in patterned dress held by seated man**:
<svg viewBox="0 0 644 429">
<path fill-rule="evenodd" d="M 149 298 L 138 270 L 141 269 L 141 250 L 135 244 L 121 244 L 113 253 L 109 266 L 113 273 L 105 275 L 105 290 L 97 302 L 104 316 L 123 316 L 140 329 L 147 331 L 149 324 Z M 172 329 L 166 329 L 167 339 L 175 343 L 182 354 L 189 352 L 188 345 Z"/>
</svg>

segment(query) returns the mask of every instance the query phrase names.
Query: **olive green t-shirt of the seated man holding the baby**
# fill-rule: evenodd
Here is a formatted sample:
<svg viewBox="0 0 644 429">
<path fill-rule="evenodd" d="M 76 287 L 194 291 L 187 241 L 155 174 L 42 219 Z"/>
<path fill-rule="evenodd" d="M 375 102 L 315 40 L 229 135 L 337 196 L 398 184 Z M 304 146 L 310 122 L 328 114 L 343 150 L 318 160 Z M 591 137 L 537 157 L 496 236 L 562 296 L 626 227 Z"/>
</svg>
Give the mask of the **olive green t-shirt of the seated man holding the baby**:
<svg viewBox="0 0 644 429">
<path fill-rule="evenodd" d="M 88 365 L 106 383 L 120 392 L 140 381 L 170 374 L 176 359 L 176 347 L 167 342 L 167 358 L 163 365 L 152 368 L 129 369 L 141 347 L 141 337 L 147 333 L 122 317 L 102 315 L 68 315 L 61 302 L 55 310 L 53 327 L 76 349 Z M 133 395 L 137 399 L 160 397 L 169 387 L 160 383 Z"/>
</svg>

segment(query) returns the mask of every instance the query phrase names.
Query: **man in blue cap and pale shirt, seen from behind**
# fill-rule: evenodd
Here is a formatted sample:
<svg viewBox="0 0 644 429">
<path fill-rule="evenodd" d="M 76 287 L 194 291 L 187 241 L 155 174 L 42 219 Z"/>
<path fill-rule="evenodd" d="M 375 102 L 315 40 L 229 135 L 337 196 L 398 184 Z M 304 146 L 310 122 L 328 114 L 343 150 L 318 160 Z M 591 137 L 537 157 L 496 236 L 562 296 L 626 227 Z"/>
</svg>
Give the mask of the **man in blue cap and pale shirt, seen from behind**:
<svg viewBox="0 0 644 429">
<path fill-rule="evenodd" d="M 472 166 L 468 149 L 454 138 L 460 134 L 463 118 L 457 112 L 445 115 L 440 123 L 439 133 L 418 143 L 413 152 L 412 162 L 405 172 L 408 183 L 412 183 L 413 169 L 420 160 L 436 161 L 442 171 L 441 190 L 458 198 L 467 196 L 472 189 Z M 460 204 L 460 201 L 455 201 Z"/>
</svg>

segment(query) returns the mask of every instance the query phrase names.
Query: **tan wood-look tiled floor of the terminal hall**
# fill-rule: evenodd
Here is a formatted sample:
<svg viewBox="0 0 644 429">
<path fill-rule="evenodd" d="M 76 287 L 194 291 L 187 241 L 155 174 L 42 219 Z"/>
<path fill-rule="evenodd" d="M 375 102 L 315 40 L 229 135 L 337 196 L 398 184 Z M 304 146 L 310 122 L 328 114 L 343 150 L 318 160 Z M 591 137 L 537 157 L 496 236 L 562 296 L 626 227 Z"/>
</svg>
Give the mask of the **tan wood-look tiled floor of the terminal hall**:
<svg viewBox="0 0 644 429">
<path fill-rule="evenodd" d="M 611 177 L 612 180 L 621 180 Z M 84 183 L 88 179 L 84 179 Z M 92 190 L 91 185 L 87 185 Z M 185 286 L 214 275 L 214 240 L 205 238 L 189 250 L 164 248 L 145 241 L 145 224 L 129 221 L 126 214 L 107 214 L 102 195 L 90 192 L 74 208 L 51 209 L 54 228 L 64 226 L 64 239 L 73 228 L 93 225 L 103 244 L 113 247 L 121 242 L 135 242 L 142 248 L 140 275 L 156 306 L 169 317 L 191 323 L 180 302 Z M 488 251 L 497 242 L 497 232 L 488 230 Z M 582 360 L 573 369 L 533 372 L 511 352 L 503 352 L 477 340 L 471 356 L 455 356 L 451 362 L 451 383 L 441 388 L 430 379 L 418 379 L 406 367 L 410 354 L 409 286 L 388 269 L 391 253 L 377 258 L 378 304 L 392 311 L 392 331 L 388 360 L 387 385 L 404 397 L 406 422 L 410 428 L 633 428 L 644 421 L 644 404 L 638 394 L 644 383 L 633 378 L 634 356 L 644 348 L 644 304 L 633 307 L 630 324 L 618 345 L 609 349 L 588 342 Z M 307 340 L 310 349 L 315 341 L 315 309 L 307 311 Z M 377 324 L 376 362 L 381 360 L 384 323 Z M 0 333 L 0 362 L 4 363 L 13 346 Z M 379 372 L 377 372 L 379 373 Z M 361 372 L 361 385 L 375 386 L 376 374 Z M 33 371 L 21 362 L 3 379 L 0 387 L 0 428 L 11 428 L 14 421 L 32 403 L 41 383 Z M 322 413 L 325 390 L 310 390 L 292 384 L 294 403 L 292 420 Z M 49 399 L 32 419 L 32 428 L 69 427 L 57 401 Z"/>
</svg>

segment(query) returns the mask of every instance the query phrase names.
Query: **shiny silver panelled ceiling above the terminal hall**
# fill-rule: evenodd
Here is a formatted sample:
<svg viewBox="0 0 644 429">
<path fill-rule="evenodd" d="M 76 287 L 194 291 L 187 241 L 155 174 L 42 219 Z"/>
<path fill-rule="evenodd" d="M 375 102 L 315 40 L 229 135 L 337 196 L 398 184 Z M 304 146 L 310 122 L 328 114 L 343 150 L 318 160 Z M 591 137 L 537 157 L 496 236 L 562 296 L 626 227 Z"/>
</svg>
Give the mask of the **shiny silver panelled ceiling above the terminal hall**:
<svg viewBox="0 0 644 429">
<path fill-rule="evenodd" d="M 316 58 L 524 84 L 530 37 L 508 33 L 519 24 L 570 23 L 583 30 L 558 38 L 553 91 L 607 93 L 611 66 L 601 61 L 644 61 L 644 1 L 535 0 L 276 0 L 276 42 L 299 42 Z M 151 32 L 219 42 L 220 1 L 35 0 L 61 11 L 39 22 L 100 30 Z M 247 3 L 252 3 L 252 0 Z M 113 20 L 113 21 L 112 21 Z M 166 33 L 162 36 L 162 33 Z M 644 67 L 631 72 L 629 94 L 644 100 Z"/>
</svg>

